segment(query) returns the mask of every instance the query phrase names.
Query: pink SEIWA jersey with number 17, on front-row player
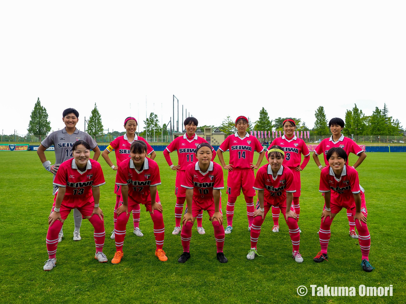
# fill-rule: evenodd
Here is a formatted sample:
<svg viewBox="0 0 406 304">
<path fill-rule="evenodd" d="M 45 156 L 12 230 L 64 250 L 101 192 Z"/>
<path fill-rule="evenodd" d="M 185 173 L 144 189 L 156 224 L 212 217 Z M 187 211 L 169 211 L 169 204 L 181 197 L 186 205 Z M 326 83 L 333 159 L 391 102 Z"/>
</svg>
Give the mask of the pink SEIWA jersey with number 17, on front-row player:
<svg viewBox="0 0 406 304">
<path fill-rule="evenodd" d="M 128 185 L 128 195 L 135 201 L 151 201 L 149 187 L 161 184 L 158 164 L 145 157 L 141 171 L 135 169 L 131 158 L 122 161 L 117 170 L 116 185 Z"/>
</svg>

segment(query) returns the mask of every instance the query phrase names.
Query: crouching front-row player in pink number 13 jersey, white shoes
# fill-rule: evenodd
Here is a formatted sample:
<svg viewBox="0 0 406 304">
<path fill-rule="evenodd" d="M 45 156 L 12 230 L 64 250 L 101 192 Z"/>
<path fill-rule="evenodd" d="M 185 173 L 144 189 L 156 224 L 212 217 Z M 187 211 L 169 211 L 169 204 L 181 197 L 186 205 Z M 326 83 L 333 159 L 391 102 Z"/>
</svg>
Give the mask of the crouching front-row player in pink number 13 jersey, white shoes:
<svg viewBox="0 0 406 304">
<path fill-rule="evenodd" d="M 56 248 L 58 233 L 63 222 L 72 209 L 77 208 L 83 218 L 87 218 L 95 228 L 96 244 L 95 259 L 100 263 L 107 262 L 103 253 L 104 231 L 103 212 L 99 208 L 100 188 L 105 184 L 102 167 L 90 158 L 90 146 L 84 140 L 76 141 L 72 146 L 73 159 L 60 164 L 54 179 L 54 186 L 58 187 L 52 211 L 48 217 L 48 233 L 46 244 L 48 261 L 44 270 L 51 270 L 56 263 Z"/>
</svg>

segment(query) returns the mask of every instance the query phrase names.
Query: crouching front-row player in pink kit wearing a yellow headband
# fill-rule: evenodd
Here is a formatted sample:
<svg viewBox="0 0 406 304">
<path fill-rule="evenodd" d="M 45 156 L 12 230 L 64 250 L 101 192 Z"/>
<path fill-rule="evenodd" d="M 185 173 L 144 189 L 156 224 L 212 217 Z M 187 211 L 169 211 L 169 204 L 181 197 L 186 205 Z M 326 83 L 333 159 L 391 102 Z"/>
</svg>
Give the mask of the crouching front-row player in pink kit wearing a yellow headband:
<svg viewBox="0 0 406 304">
<path fill-rule="evenodd" d="M 285 165 L 282 165 L 286 156 L 281 146 L 272 146 L 268 151 L 269 164 L 263 165 L 257 171 L 253 188 L 258 191 L 259 206 L 254 212 L 254 221 L 251 225 L 251 249 L 247 259 L 253 260 L 257 253 L 257 242 L 261 226 L 271 206 L 278 207 L 287 226 L 292 240 L 292 257 L 298 263 L 303 262 L 299 253 L 300 233 L 296 221 L 297 215 L 292 205 L 293 193 L 296 191 L 294 175 Z"/>
</svg>

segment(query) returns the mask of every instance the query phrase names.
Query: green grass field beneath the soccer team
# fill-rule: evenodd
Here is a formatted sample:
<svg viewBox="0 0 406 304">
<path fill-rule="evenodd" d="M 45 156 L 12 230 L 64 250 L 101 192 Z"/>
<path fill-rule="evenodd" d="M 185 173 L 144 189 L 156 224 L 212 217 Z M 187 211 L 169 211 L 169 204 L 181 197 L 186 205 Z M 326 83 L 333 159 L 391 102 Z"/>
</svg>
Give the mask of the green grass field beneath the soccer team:
<svg viewBox="0 0 406 304">
<path fill-rule="evenodd" d="M 246 259 L 250 248 L 246 206 L 241 195 L 235 204 L 233 233 L 226 235 L 224 252 L 229 262 L 216 260 L 213 227 L 203 216 L 205 235 L 194 225 L 190 243 L 191 258 L 177 262 L 182 253 L 175 226 L 175 172 L 166 164 L 162 152 L 155 159 L 160 165 L 162 185 L 158 191 L 166 226 L 164 250 L 167 262 L 154 256 L 155 241 L 149 213 L 141 206 L 140 228 L 144 237 L 132 233 L 127 225 L 124 258 L 112 265 L 115 246 L 113 229 L 115 171 L 100 157 L 106 185 L 101 188 L 100 207 L 105 215 L 108 263 L 94 259 L 93 227 L 83 220 L 80 242 L 73 242 L 73 216 L 64 224 L 65 237 L 58 245 L 57 266 L 42 270 L 48 259 L 45 236 L 52 206 L 52 175 L 45 171 L 35 152 L 0 152 L 0 303 L 404 303 L 405 302 L 405 227 L 404 170 L 406 153 L 369 153 L 359 168 L 365 188 L 368 227 L 371 233 L 369 260 L 376 268 L 361 269 L 358 240 L 348 235 L 344 210 L 331 227 L 329 261 L 316 264 L 320 250 L 318 235 L 323 199 L 318 192 L 320 171 L 313 160 L 302 171 L 300 221 L 302 230 L 301 264 L 292 259 L 292 243 L 286 223 L 280 217 L 280 232 L 272 233 L 272 216 L 262 225 L 258 252 L 263 257 Z M 50 161 L 54 153 L 46 152 Z M 114 157 L 114 154 L 110 154 Z M 172 157 L 176 157 L 176 154 Z M 225 157 L 228 155 L 225 153 Z M 218 159 L 216 158 L 216 161 Z M 350 164 L 355 157 L 350 157 Z M 227 161 L 227 159 L 226 159 Z M 114 161 L 113 161 L 114 162 Z M 265 161 L 263 162 L 265 163 Z M 227 173 L 225 172 L 225 184 Z M 223 191 L 223 212 L 226 195 Z M 224 212 L 225 213 L 225 212 Z M 130 217 L 131 218 L 131 217 Z M 225 218 L 225 216 L 224 216 Z M 225 225 L 226 226 L 226 225 Z M 354 286 L 355 297 L 312 297 L 310 285 Z M 361 297 L 358 286 L 393 285 L 393 297 Z M 296 289 L 304 285 L 307 295 Z"/>
</svg>

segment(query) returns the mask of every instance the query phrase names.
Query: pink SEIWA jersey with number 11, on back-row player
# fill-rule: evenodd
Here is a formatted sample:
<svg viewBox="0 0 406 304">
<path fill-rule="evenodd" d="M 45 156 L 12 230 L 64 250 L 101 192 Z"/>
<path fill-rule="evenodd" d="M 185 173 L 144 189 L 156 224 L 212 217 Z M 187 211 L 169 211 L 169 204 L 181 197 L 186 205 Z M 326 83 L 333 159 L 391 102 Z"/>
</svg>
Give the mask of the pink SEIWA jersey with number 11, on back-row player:
<svg viewBox="0 0 406 304">
<path fill-rule="evenodd" d="M 196 163 L 196 147 L 199 146 L 201 143 L 207 143 L 207 141 L 194 134 L 192 139 L 188 139 L 186 134 L 183 136 L 176 137 L 167 147 L 166 150 L 171 153 L 177 150 L 178 154 L 178 164 L 180 165 L 180 171 L 186 170 L 186 167 L 190 163 Z M 213 157 L 212 161 L 216 157 L 216 152 L 213 148 Z"/>
</svg>

